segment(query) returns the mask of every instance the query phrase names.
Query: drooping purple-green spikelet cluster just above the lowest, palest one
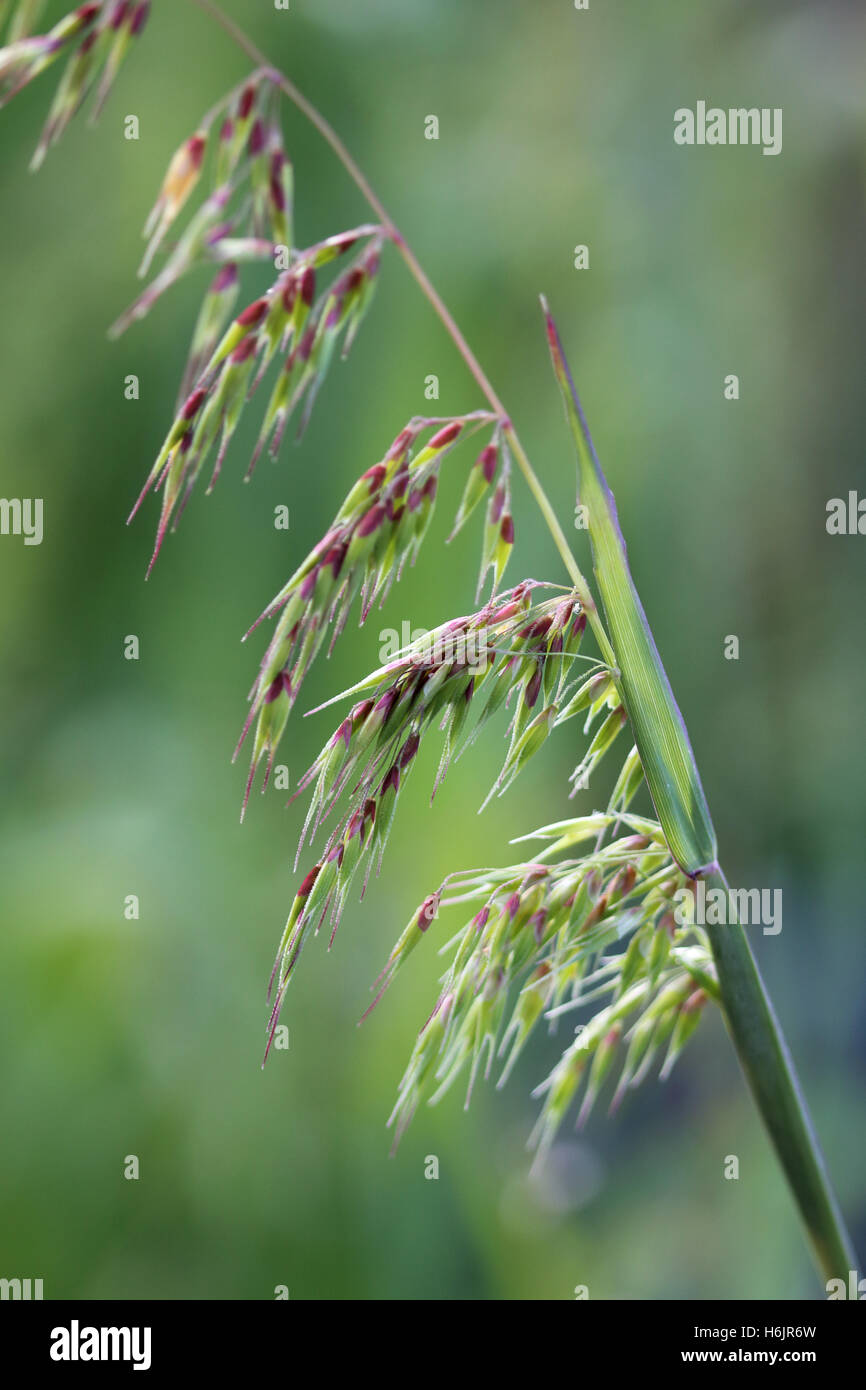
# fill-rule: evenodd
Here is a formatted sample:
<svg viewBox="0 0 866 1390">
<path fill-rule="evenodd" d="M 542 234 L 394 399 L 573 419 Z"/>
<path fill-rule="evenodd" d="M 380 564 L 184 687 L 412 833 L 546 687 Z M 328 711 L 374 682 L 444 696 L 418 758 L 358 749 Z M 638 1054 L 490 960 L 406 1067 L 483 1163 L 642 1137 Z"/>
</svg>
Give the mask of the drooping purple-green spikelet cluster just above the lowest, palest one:
<svg viewBox="0 0 866 1390">
<path fill-rule="evenodd" d="M 398 796 L 434 724 L 443 735 L 435 794 L 450 763 L 474 742 L 488 720 L 500 710 L 510 713 L 509 748 L 491 795 L 502 795 L 512 785 L 556 724 L 587 712 L 588 735 L 599 719 L 602 731 L 610 726 L 610 714 L 603 716 L 612 710 L 617 714 L 616 731 L 623 727 L 612 673 L 596 659 L 591 662 L 592 674 L 587 676 L 587 667 L 574 674 L 587 627 L 577 595 L 571 591 L 550 598 L 549 589 L 550 585 L 525 580 L 492 598 L 480 612 L 417 638 L 386 666 L 336 696 L 361 699 L 300 780 L 299 794 L 313 788 L 313 795 L 299 853 L 307 835 L 311 841 L 341 803 L 342 813 L 289 913 L 271 980 L 277 981 L 277 992 L 268 1038 L 304 941 L 310 933 L 318 933 L 325 919 L 332 940 L 354 876 L 363 869 L 366 891 L 371 872 L 378 873 Z M 592 738 L 588 753 L 592 767 L 612 742 L 612 735 L 605 737 L 603 745 L 598 734 Z M 626 816 L 641 780 L 639 759 L 632 749 L 607 815 L 591 824 L 598 835 L 596 853 L 602 853 L 605 833 Z M 574 824 L 585 830 L 587 823 L 563 823 L 538 833 L 555 841 L 550 853 L 573 845 Z M 646 824 L 641 823 L 642 830 Z M 662 841 L 655 823 L 652 835 Z M 438 908 L 441 894 L 434 897 Z M 607 902 L 609 895 L 599 891 L 598 916 L 605 915 Z M 395 948 L 384 973 L 385 984 L 407 942 L 417 944 L 428 926 L 430 901 L 420 909 L 409 937 Z M 481 983 L 478 988 L 482 987 Z"/>
</svg>

